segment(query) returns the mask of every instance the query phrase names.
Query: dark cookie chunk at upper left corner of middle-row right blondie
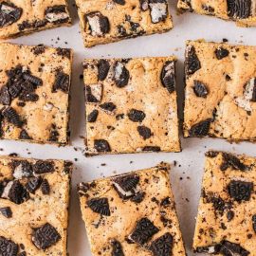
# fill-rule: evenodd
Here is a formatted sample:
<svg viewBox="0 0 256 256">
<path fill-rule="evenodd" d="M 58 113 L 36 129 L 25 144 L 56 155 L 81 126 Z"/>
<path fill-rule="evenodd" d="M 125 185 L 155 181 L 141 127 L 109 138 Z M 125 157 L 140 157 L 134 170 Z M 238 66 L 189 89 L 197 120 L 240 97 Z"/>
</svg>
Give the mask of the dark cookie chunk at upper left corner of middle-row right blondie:
<svg viewBox="0 0 256 256">
<path fill-rule="evenodd" d="M 185 70 L 186 75 L 191 76 L 201 68 L 201 63 L 196 55 L 194 46 L 188 46 L 186 51 Z"/>
</svg>

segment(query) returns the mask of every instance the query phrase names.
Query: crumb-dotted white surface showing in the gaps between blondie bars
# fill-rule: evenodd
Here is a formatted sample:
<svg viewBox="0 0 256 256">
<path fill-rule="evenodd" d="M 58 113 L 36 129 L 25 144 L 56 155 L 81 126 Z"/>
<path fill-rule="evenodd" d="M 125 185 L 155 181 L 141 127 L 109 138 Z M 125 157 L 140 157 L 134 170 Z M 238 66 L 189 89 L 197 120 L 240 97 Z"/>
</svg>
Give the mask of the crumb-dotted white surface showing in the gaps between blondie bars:
<svg viewBox="0 0 256 256">
<path fill-rule="evenodd" d="M 127 0 L 129 1 L 129 0 Z M 197 212 L 200 183 L 204 166 L 204 153 L 209 149 L 226 150 L 237 154 L 256 155 L 256 145 L 250 143 L 229 144 L 222 139 L 181 139 L 182 153 L 176 154 L 144 154 L 144 155 L 105 155 L 85 158 L 82 155 L 84 134 L 84 103 L 82 95 L 82 60 L 84 58 L 101 57 L 140 57 L 140 56 L 168 56 L 176 55 L 177 63 L 177 91 L 179 106 L 183 98 L 183 61 L 184 46 L 188 39 L 206 39 L 221 42 L 229 39 L 231 44 L 247 44 L 256 46 L 256 27 L 236 27 L 232 22 L 225 22 L 207 16 L 193 13 L 176 15 L 176 1 L 170 1 L 171 12 L 174 17 L 174 29 L 161 35 L 140 37 L 125 40 L 116 44 L 95 46 L 86 49 L 82 45 L 82 36 L 79 29 L 79 20 L 70 0 L 70 9 L 73 16 L 72 27 L 55 28 L 11 42 L 48 46 L 71 47 L 75 51 L 72 79 L 71 102 L 71 138 L 72 146 L 58 148 L 49 145 L 34 145 L 17 141 L 0 141 L 1 155 L 17 153 L 21 156 L 38 158 L 63 158 L 74 161 L 73 189 L 70 206 L 70 226 L 68 251 L 71 256 L 90 256 L 90 249 L 82 224 L 81 211 L 76 193 L 76 185 L 81 181 L 90 181 L 102 176 L 120 174 L 127 171 L 155 166 L 160 161 L 173 163 L 171 181 L 176 201 L 176 208 L 180 219 L 184 241 L 189 255 L 192 253 L 192 234 Z M 74 147 L 80 148 L 75 151 Z M 76 159 L 75 159 L 76 158 Z M 174 160 L 177 162 L 174 166 Z M 133 161 L 130 163 L 130 161 Z M 105 166 L 101 166 L 105 163 Z"/>
</svg>

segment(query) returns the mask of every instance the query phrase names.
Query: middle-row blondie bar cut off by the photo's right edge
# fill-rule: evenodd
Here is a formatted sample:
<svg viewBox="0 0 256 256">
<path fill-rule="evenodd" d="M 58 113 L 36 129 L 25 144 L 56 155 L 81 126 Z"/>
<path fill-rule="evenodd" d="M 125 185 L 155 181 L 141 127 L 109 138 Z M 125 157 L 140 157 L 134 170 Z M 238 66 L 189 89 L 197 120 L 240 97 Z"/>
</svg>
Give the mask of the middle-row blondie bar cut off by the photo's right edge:
<svg viewBox="0 0 256 256">
<path fill-rule="evenodd" d="M 256 141 L 256 47 L 187 42 L 185 137 Z"/>
</svg>

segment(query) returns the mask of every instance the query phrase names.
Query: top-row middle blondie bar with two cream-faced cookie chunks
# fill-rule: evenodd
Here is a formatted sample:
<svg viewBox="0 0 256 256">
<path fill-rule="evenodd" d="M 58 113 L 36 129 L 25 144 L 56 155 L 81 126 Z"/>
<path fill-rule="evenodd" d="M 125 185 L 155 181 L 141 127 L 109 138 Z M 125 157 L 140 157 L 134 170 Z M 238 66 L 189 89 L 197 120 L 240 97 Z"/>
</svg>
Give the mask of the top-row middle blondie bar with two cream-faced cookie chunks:
<svg viewBox="0 0 256 256">
<path fill-rule="evenodd" d="M 166 0 L 76 0 L 84 46 L 173 28 Z"/>
</svg>

